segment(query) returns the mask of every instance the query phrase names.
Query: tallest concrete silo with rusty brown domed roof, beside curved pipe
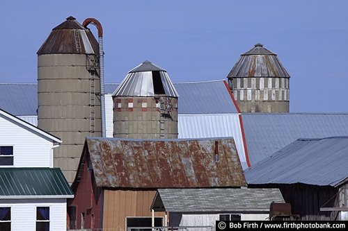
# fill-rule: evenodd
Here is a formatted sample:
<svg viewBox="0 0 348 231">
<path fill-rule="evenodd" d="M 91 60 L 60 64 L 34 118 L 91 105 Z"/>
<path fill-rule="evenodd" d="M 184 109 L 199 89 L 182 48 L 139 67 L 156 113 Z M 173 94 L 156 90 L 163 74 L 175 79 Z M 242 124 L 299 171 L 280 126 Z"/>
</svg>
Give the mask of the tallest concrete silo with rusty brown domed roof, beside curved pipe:
<svg viewBox="0 0 348 231">
<path fill-rule="evenodd" d="M 38 50 L 38 127 L 60 137 L 54 167 L 72 183 L 87 136 L 100 137 L 98 42 L 74 17 L 52 29 Z"/>
</svg>

